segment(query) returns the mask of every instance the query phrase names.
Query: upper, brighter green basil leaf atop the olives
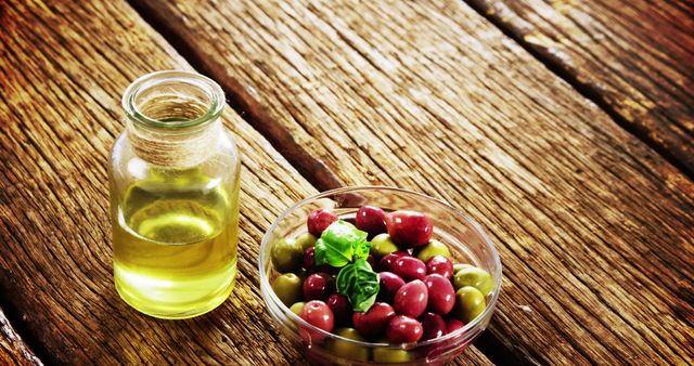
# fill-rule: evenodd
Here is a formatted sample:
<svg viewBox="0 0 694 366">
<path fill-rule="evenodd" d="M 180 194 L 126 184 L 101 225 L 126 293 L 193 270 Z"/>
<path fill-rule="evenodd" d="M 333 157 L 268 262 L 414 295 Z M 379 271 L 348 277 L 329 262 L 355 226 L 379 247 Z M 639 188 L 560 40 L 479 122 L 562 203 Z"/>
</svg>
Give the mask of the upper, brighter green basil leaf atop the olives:
<svg viewBox="0 0 694 366">
<path fill-rule="evenodd" d="M 363 247 L 368 234 L 355 228 L 345 221 L 332 223 L 316 241 L 316 264 L 330 264 L 340 267 L 349 263 L 355 248 Z M 368 256 L 368 253 L 367 253 Z"/>
</svg>

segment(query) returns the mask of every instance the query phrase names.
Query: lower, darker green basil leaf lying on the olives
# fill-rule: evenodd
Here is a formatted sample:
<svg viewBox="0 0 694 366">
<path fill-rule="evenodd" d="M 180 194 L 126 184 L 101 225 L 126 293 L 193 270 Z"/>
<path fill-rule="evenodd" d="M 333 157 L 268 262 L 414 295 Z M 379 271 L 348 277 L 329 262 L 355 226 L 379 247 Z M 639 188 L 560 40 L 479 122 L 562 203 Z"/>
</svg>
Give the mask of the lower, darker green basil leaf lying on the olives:
<svg viewBox="0 0 694 366">
<path fill-rule="evenodd" d="M 356 312 L 365 312 L 376 302 L 378 295 L 378 274 L 369 262 L 358 259 L 355 263 L 344 266 L 335 280 L 337 292 L 346 296 Z"/>
</svg>

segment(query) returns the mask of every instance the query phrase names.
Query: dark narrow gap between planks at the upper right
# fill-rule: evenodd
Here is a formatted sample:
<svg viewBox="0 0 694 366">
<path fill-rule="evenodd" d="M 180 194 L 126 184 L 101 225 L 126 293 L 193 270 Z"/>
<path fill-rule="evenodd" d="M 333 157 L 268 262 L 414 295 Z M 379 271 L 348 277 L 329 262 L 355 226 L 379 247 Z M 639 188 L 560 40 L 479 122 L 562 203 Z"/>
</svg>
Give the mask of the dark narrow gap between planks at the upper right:
<svg viewBox="0 0 694 366">
<path fill-rule="evenodd" d="M 641 130 L 638 127 L 629 123 L 627 119 L 621 116 L 613 106 L 607 103 L 604 99 L 601 97 L 600 89 L 592 83 L 581 83 L 576 75 L 571 75 L 571 73 L 564 67 L 560 61 L 552 58 L 551 55 L 544 55 L 534 47 L 531 47 L 519 32 L 513 29 L 511 24 L 505 24 L 489 14 L 486 9 L 483 6 L 481 2 L 478 0 L 460 0 L 465 2 L 471 9 L 473 9 L 477 14 L 487 19 L 494 27 L 499 28 L 504 36 L 512 39 L 518 45 L 520 45 L 525 51 L 532 55 L 536 60 L 538 60 L 544 67 L 547 67 L 554 75 L 558 76 L 568 83 L 574 90 L 576 90 L 579 94 L 581 94 L 587 100 L 591 101 L 595 105 L 597 105 L 609 118 L 617 123 L 625 131 L 634 135 L 637 139 L 642 141 L 646 146 L 652 148 L 658 155 L 660 155 L 665 160 L 676 167 L 682 174 L 684 174 L 690 180 L 694 181 L 694 170 L 690 169 L 686 164 L 682 162 L 672 152 L 665 148 L 663 145 L 658 144 L 652 138 L 648 136 L 648 131 Z"/>
</svg>

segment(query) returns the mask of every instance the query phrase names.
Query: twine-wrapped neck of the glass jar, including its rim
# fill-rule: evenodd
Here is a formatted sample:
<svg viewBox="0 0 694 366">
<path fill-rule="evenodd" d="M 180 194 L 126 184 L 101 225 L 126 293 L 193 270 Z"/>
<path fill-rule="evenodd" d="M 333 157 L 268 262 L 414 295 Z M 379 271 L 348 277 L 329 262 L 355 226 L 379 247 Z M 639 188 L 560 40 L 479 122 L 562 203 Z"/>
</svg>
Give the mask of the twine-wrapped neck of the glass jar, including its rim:
<svg viewBox="0 0 694 366">
<path fill-rule="evenodd" d="M 221 88 L 185 71 L 159 71 L 136 80 L 123 96 L 127 136 L 138 157 L 185 169 L 216 154 L 223 133 Z"/>
</svg>

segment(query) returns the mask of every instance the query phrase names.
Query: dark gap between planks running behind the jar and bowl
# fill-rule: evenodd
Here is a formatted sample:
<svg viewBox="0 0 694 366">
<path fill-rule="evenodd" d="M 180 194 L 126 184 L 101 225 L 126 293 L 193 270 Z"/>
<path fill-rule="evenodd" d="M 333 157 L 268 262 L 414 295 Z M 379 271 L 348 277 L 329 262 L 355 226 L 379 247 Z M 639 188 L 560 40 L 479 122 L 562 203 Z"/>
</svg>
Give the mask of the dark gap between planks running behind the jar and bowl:
<svg viewBox="0 0 694 366">
<path fill-rule="evenodd" d="M 345 184 L 319 159 L 314 158 L 304 147 L 301 147 L 292 136 L 290 131 L 275 121 L 266 107 L 256 99 L 255 91 L 245 88 L 236 78 L 226 71 L 222 64 L 216 61 L 204 62 L 196 54 L 191 44 L 177 36 L 169 25 L 159 19 L 156 14 L 152 14 L 149 9 L 141 6 L 132 0 L 127 0 L 155 31 L 183 57 L 198 73 L 217 81 L 224 94 L 227 103 L 243 118 L 248 125 L 265 136 L 272 147 L 274 147 L 313 187 L 319 191 L 329 191 L 345 186 Z M 207 65 L 207 64 L 214 65 Z M 223 78 L 219 78 L 223 75 Z M 522 358 L 490 331 L 485 331 L 474 345 L 485 356 L 498 365 L 532 365 L 530 360 Z"/>
</svg>

